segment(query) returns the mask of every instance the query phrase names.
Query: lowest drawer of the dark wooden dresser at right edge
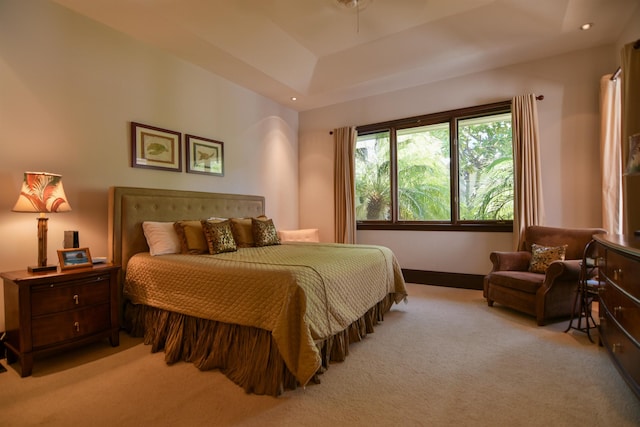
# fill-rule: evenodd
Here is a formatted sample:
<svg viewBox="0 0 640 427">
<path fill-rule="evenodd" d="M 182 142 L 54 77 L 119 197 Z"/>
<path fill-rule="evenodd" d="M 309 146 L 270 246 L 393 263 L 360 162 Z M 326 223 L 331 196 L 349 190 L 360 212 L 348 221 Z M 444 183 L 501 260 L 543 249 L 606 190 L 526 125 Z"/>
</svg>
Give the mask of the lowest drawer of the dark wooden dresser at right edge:
<svg viewBox="0 0 640 427">
<path fill-rule="evenodd" d="M 638 393 L 640 391 L 640 348 L 622 332 L 611 317 L 611 313 L 605 310 L 600 320 L 600 334 L 603 345 L 620 368 L 625 373 L 625 379 L 630 382 L 631 388 Z"/>
</svg>

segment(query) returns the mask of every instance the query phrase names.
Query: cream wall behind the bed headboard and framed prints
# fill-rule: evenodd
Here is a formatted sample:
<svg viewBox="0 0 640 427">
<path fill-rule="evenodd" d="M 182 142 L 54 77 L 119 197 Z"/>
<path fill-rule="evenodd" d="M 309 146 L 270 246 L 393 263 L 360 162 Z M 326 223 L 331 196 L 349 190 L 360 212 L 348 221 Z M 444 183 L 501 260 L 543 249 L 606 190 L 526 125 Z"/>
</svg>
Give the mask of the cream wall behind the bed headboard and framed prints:
<svg viewBox="0 0 640 427">
<path fill-rule="evenodd" d="M 224 142 L 225 176 L 130 167 L 129 122 Z M 0 1 L 0 271 L 37 261 L 36 214 L 11 212 L 23 172 L 63 175 L 70 213 L 49 215 L 107 254 L 107 192 L 133 186 L 257 194 L 298 226 L 298 113 L 47 1 Z M 0 331 L 4 311 L 0 292 Z"/>
</svg>

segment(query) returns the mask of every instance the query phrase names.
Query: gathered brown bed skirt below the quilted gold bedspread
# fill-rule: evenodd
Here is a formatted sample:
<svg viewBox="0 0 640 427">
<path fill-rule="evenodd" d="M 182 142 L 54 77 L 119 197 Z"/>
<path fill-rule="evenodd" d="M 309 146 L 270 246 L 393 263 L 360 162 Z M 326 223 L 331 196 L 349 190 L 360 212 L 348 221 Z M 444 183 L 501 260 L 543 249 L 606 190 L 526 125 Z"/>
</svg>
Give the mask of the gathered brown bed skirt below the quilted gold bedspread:
<svg viewBox="0 0 640 427">
<path fill-rule="evenodd" d="M 321 367 L 311 381 L 320 383 L 318 375 L 331 362 L 344 361 L 349 344 L 372 333 L 395 300 L 394 293 L 388 294 L 342 332 L 317 340 Z M 279 396 L 301 385 L 284 363 L 271 333 L 264 329 L 130 302 L 125 305 L 124 328 L 134 337 L 144 337 L 151 352 L 164 350 L 167 364 L 184 361 L 202 371 L 219 369 L 247 393 Z"/>
</svg>

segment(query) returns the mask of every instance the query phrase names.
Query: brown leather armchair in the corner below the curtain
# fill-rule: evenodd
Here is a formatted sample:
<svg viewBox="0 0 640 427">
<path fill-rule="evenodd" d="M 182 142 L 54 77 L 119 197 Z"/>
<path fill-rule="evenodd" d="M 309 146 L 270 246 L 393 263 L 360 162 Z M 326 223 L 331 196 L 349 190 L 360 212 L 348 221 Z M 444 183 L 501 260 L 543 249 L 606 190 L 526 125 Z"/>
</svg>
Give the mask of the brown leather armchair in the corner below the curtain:
<svg viewBox="0 0 640 427">
<path fill-rule="evenodd" d="M 484 278 L 484 297 L 536 317 L 542 326 L 550 319 L 569 317 L 573 310 L 580 261 L 585 246 L 601 228 L 556 228 L 533 225 L 525 229 L 518 252 L 492 252 L 493 269 Z M 545 273 L 529 271 L 531 245 L 567 245 L 565 261 L 554 261 Z"/>
</svg>

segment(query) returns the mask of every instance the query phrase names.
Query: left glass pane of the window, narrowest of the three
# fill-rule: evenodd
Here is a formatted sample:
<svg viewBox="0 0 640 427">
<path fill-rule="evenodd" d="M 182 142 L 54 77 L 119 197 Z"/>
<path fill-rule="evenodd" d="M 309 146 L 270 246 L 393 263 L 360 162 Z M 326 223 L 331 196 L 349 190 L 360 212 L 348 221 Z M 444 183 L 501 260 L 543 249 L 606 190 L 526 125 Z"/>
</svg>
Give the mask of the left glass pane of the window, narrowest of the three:
<svg viewBox="0 0 640 427">
<path fill-rule="evenodd" d="M 355 157 L 356 220 L 390 220 L 389 131 L 358 136 Z"/>
</svg>

